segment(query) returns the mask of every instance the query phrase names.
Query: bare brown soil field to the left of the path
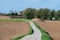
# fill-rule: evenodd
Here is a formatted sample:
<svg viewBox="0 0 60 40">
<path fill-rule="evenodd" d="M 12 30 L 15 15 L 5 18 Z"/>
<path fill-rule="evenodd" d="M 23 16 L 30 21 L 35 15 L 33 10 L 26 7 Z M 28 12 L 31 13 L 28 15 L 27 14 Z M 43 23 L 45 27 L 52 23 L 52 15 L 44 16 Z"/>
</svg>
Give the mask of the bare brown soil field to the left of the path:
<svg viewBox="0 0 60 40">
<path fill-rule="evenodd" d="M 29 31 L 27 22 L 0 22 L 0 40 L 10 40 L 10 38 L 27 34 Z"/>
</svg>

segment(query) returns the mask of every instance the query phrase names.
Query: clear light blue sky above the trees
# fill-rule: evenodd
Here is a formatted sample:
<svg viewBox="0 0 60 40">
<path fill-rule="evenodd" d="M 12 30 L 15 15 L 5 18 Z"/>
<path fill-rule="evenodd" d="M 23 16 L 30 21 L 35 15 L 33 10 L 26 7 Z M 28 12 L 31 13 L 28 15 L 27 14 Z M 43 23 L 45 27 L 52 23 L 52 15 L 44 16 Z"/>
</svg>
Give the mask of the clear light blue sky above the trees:
<svg viewBox="0 0 60 40">
<path fill-rule="evenodd" d="M 60 9 L 60 0 L 0 0 L 0 12 L 21 11 L 26 8 Z"/>
</svg>

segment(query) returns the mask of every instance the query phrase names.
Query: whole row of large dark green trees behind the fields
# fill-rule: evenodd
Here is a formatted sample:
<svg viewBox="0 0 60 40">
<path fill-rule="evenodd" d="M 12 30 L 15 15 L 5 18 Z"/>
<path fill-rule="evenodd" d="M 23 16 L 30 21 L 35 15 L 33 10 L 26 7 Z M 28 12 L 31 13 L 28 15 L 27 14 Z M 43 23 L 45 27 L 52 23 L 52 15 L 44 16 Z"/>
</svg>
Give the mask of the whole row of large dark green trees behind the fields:
<svg viewBox="0 0 60 40">
<path fill-rule="evenodd" d="M 39 10 L 33 8 L 27 8 L 23 12 L 23 17 L 26 19 L 40 18 L 42 20 L 60 20 L 60 10 L 50 10 L 48 8 L 41 8 Z"/>
</svg>

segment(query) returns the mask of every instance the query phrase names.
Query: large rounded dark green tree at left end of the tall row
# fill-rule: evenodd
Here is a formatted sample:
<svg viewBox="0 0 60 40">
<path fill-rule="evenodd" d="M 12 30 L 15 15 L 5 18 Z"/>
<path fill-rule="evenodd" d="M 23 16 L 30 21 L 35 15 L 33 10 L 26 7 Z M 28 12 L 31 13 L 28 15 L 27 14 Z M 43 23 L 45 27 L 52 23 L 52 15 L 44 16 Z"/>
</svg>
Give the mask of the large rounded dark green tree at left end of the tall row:
<svg viewBox="0 0 60 40">
<path fill-rule="evenodd" d="M 35 9 L 32 8 L 27 8 L 24 12 L 23 12 L 23 17 L 26 19 L 32 19 L 34 18 L 34 13 L 35 13 Z"/>
</svg>

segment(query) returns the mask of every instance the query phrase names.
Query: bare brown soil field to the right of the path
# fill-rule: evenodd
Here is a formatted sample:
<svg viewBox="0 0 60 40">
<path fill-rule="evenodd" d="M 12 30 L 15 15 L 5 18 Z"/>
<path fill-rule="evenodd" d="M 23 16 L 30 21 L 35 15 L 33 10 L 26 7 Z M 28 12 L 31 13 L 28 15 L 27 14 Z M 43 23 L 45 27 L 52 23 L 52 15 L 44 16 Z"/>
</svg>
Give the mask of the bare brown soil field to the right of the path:
<svg viewBox="0 0 60 40">
<path fill-rule="evenodd" d="M 53 38 L 53 40 L 60 40 L 60 21 L 44 21 L 35 19 L 35 22 L 39 24 L 39 26 L 44 29 L 49 35 Z"/>
</svg>

